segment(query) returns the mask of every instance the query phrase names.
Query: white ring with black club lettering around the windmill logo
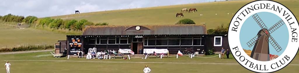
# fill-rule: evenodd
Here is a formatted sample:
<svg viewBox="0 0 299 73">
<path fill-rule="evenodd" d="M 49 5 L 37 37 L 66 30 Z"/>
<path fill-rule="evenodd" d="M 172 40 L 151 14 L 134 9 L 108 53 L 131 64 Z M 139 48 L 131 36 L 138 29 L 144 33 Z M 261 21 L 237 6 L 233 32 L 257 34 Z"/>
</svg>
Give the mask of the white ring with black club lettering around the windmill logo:
<svg viewBox="0 0 299 73">
<path fill-rule="evenodd" d="M 254 10 L 254 11 L 251 11 L 251 13 L 247 14 L 244 18 L 242 18 L 242 21 L 240 22 L 239 21 L 239 26 L 238 26 L 238 31 L 235 32 L 235 31 L 231 31 L 234 26 L 234 22 L 237 21 L 237 16 L 243 11 L 245 10 L 246 8 L 250 8 L 250 6 L 254 6 L 255 4 L 260 4 L 260 3 L 268 3 L 268 4 L 271 4 L 271 5 L 275 5 L 275 6 L 279 6 L 280 8 L 283 8 L 283 10 L 281 10 L 281 13 L 279 13 L 278 11 L 274 11 L 274 10 L 270 10 L 270 9 L 259 9 L 259 10 Z M 270 5 L 270 8 L 271 8 L 271 5 Z M 246 69 L 248 70 L 251 70 L 251 71 L 254 71 L 254 72 L 275 72 L 275 71 L 278 71 L 282 68 L 284 68 L 285 66 L 287 66 L 293 59 L 294 57 L 296 56 L 297 52 L 298 52 L 298 48 L 299 48 L 299 42 L 292 42 L 292 31 L 291 31 L 291 27 L 288 23 L 288 21 L 283 18 L 283 12 L 284 10 L 286 10 L 287 13 L 290 14 L 290 16 L 292 17 L 292 19 L 294 20 L 294 24 L 292 24 L 292 28 L 299 28 L 298 26 L 298 21 L 297 19 L 295 18 L 294 14 L 288 9 L 286 8 L 285 6 L 283 6 L 282 4 L 280 3 L 277 3 L 275 1 L 268 1 L 268 0 L 261 0 L 261 1 L 253 1 L 251 3 L 248 3 L 246 4 L 245 6 L 243 6 L 241 9 L 239 9 L 239 11 L 237 13 L 235 13 L 234 17 L 232 18 L 231 20 L 231 23 L 230 23 L 230 26 L 229 26 L 229 29 L 228 29 L 228 43 L 229 43 L 229 47 L 231 49 L 231 52 L 233 54 L 233 56 L 235 57 L 235 59 L 238 61 L 238 63 L 240 63 L 243 67 L 245 67 Z M 277 57 L 276 59 L 274 60 L 271 60 L 271 61 L 258 61 L 258 60 L 254 60 L 252 59 L 251 57 L 249 57 L 243 50 L 242 46 L 241 46 L 241 43 L 240 43 L 240 39 L 239 39 L 239 34 L 240 34 L 240 30 L 242 29 L 242 24 L 246 21 L 246 19 L 255 14 L 255 13 L 259 13 L 259 12 L 270 12 L 270 13 L 273 13 L 273 14 L 276 14 L 277 16 L 279 16 L 283 22 L 285 22 L 285 25 L 287 26 L 288 28 L 288 31 L 289 31 L 289 43 L 287 45 L 286 48 L 283 48 L 285 49 L 285 51 L 283 51 L 283 53 Z M 273 21 L 273 22 L 278 22 L 278 21 Z M 270 27 L 269 27 L 270 28 Z M 296 30 L 297 31 L 297 30 Z M 298 33 L 299 34 L 299 33 Z M 299 36 L 298 36 L 299 37 Z M 236 39 L 238 38 L 238 39 Z M 253 37 L 252 37 L 253 38 Z M 248 40 L 249 41 L 249 40 Z M 233 50 L 234 47 L 237 47 L 239 48 L 239 50 Z M 270 45 L 271 46 L 271 45 Z M 240 56 L 236 56 L 236 51 L 240 51 L 241 52 L 241 55 L 240 56 L 244 56 L 245 59 L 248 59 L 249 61 L 253 62 L 254 63 L 254 66 L 256 64 L 258 65 L 266 65 L 268 66 L 267 69 L 269 69 L 268 71 L 260 71 L 260 70 L 256 70 L 256 69 L 253 69 L 253 68 L 250 68 L 248 65 L 245 65 L 245 63 L 247 62 L 246 60 L 245 61 L 240 61 L 239 58 Z M 276 68 L 276 69 L 271 69 L 271 64 L 272 63 L 276 63 L 276 62 L 279 62 L 279 60 L 283 59 L 284 56 L 288 55 L 288 57 L 290 57 L 289 61 L 286 61 L 285 64 L 281 65 L 279 68 Z"/>
</svg>

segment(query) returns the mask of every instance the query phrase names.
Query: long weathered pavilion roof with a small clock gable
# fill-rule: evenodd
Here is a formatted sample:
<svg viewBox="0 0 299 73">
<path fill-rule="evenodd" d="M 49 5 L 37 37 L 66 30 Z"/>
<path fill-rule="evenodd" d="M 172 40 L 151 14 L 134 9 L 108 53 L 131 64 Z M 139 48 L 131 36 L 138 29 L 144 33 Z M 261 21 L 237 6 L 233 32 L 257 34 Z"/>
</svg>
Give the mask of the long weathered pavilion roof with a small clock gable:
<svg viewBox="0 0 299 73">
<path fill-rule="evenodd" d="M 140 25 L 132 26 L 87 26 L 83 35 L 174 35 L 207 34 L 204 25 Z"/>
</svg>

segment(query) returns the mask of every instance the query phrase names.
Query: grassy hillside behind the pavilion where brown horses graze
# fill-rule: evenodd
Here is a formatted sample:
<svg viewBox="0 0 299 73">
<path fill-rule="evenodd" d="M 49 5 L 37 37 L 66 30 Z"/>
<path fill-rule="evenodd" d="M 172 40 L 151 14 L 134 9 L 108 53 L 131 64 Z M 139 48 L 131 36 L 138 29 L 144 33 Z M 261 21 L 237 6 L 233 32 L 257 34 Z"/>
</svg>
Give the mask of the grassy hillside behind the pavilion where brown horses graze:
<svg viewBox="0 0 299 73">
<path fill-rule="evenodd" d="M 253 0 L 219 1 L 196 4 L 181 4 L 138 9 L 111 10 L 91 13 L 53 16 L 61 19 L 87 19 L 91 22 L 108 22 L 109 25 L 173 25 L 185 18 L 196 24 L 206 24 L 207 28 L 215 28 L 221 24 L 228 25 L 233 13 Z M 274 0 L 288 7 L 295 16 L 299 16 L 298 0 Z M 182 8 L 196 8 L 196 13 L 183 13 L 184 17 L 176 17 Z M 229 14 L 228 14 L 229 13 Z M 199 16 L 203 14 L 202 16 Z M 217 15 L 216 15 L 217 14 Z"/>
</svg>

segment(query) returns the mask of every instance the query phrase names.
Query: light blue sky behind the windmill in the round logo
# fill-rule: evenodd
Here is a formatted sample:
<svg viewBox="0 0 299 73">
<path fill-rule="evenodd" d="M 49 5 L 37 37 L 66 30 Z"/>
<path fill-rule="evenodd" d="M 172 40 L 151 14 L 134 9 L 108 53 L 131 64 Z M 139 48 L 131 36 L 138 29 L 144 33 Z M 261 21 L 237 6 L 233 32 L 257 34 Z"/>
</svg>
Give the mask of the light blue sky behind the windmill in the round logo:
<svg viewBox="0 0 299 73">
<path fill-rule="evenodd" d="M 265 23 L 267 28 L 271 28 L 275 23 L 277 23 L 281 18 L 273 13 L 269 12 L 260 12 L 257 13 L 258 16 L 260 16 L 260 19 Z M 253 16 L 253 15 L 252 15 Z M 251 40 L 254 36 L 257 35 L 258 31 L 261 30 L 260 26 L 257 24 L 257 22 L 254 21 L 254 19 L 250 16 L 248 19 L 245 20 L 244 24 L 242 25 L 242 28 L 240 30 L 240 42 L 242 45 L 242 48 L 246 50 L 253 49 L 254 46 L 251 46 L 251 48 L 248 47 L 246 44 L 249 40 Z M 288 39 L 289 39 L 289 33 L 288 29 L 286 27 L 286 24 L 282 25 L 280 28 L 278 28 L 276 31 L 272 32 L 270 34 L 274 40 L 280 45 L 282 48 L 281 51 L 277 52 L 274 47 L 269 43 L 269 52 L 270 54 L 275 54 L 280 56 L 283 51 L 286 49 L 286 46 L 288 45 Z"/>
</svg>

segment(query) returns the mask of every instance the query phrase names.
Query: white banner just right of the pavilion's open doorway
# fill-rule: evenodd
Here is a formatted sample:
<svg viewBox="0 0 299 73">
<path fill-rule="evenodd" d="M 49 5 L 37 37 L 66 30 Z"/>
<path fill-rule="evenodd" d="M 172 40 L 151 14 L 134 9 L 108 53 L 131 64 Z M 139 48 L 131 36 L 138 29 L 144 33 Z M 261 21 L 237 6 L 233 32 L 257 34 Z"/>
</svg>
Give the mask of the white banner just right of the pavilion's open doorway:
<svg viewBox="0 0 299 73">
<path fill-rule="evenodd" d="M 168 50 L 167 49 L 143 49 L 144 54 L 152 54 L 152 53 L 157 53 L 157 54 L 167 54 Z"/>
</svg>

